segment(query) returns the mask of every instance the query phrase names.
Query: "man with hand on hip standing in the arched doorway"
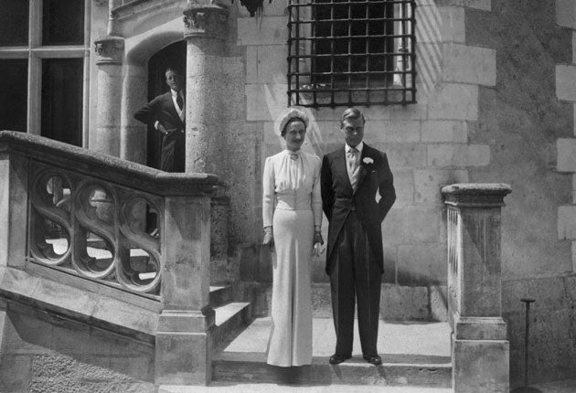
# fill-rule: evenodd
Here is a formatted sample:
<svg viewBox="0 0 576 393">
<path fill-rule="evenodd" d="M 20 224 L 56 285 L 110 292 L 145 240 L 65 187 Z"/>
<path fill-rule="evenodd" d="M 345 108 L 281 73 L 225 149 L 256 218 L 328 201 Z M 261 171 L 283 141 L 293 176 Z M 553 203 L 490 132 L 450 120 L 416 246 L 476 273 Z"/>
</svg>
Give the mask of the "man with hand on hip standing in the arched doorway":
<svg viewBox="0 0 576 393">
<path fill-rule="evenodd" d="M 166 69 L 166 84 L 170 91 L 145 104 L 134 118 L 153 125 L 162 133 L 160 169 L 165 172 L 184 172 L 186 160 L 185 80 L 176 69 Z"/>
</svg>

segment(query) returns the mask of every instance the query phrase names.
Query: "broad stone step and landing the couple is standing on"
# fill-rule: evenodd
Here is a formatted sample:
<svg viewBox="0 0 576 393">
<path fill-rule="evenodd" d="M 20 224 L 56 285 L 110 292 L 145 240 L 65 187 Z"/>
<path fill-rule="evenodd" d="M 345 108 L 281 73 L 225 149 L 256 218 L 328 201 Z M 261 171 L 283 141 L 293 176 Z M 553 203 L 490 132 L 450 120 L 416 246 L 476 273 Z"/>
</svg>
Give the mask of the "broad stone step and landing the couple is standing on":
<svg viewBox="0 0 576 393">
<path fill-rule="evenodd" d="M 270 318 L 256 319 L 214 357 L 213 379 L 219 382 L 302 385 L 379 385 L 450 388 L 452 365 L 450 327 L 446 323 L 379 325 L 382 366 L 369 365 L 355 330 L 353 358 L 332 366 L 328 357 L 336 345 L 331 319 L 313 322 L 313 361 L 310 366 L 276 367 L 266 364 Z"/>
</svg>

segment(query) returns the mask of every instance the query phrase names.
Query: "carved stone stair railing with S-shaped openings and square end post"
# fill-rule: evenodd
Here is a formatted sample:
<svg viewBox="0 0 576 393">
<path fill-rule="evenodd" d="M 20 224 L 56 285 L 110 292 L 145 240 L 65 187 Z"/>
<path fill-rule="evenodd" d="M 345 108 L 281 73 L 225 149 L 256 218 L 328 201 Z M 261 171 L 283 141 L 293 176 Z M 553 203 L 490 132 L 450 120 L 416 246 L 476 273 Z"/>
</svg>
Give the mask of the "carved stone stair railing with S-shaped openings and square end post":
<svg viewBox="0 0 576 393">
<path fill-rule="evenodd" d="M 0 268 L 152 303 L 155 383 L 205 384 L 214 326 L 210 197 L 217 184 L 215 175 L 165 173 L 30 133 L 0 132 Z"/>
</svg>

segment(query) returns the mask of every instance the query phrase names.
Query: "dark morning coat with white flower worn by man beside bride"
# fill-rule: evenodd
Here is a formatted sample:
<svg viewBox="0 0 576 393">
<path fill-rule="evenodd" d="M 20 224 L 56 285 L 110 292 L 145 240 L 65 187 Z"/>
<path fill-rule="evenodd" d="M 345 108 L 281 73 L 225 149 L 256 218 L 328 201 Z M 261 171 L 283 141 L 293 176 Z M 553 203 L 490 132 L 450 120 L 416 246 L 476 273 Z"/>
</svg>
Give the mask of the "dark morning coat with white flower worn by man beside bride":
<svg viewBox="0 0 576 393">
<path fill-rule="evenodd" d="M 369 159 L 372 160 L 371 163 Z M 396 200 L 393 180 L 386 154 L 366 143 L 360 158 L 356 192 L 353 191 L 348 178 L 344 146 L 324 156 L 321 172 L 322 204 L 330 223 L 325 266 L 327 274 L 332 271 L 330 256 L 334 252 L 336 239 L 348 213 L 353 208 L 356 209 L 357 217 L 367 232 L 368 244 L 373 250 L 380 271 L 384 272 L 381 223 Z M 377 193 L 380 196 L 378 202 Z"/>
</svg>

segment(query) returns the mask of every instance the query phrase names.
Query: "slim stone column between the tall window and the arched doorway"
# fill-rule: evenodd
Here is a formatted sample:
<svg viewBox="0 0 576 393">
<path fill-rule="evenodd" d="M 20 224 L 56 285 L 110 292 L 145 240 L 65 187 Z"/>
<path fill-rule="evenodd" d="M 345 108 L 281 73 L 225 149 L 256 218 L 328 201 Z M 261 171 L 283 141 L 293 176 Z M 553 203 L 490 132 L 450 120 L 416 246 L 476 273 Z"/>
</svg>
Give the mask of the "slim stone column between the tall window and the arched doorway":
<svg viewBox="0 0 576 393">
<path fill-rule="evenodd" d="M 122 62 L 124 38 L 101 37 L 94 41 L 99 58 L 98 114 L 96 132 L 90 133 L 89 147 L 105 154 L 120 156 L 120 116 L 122 104 Z"/>
</svg>

